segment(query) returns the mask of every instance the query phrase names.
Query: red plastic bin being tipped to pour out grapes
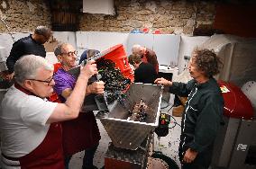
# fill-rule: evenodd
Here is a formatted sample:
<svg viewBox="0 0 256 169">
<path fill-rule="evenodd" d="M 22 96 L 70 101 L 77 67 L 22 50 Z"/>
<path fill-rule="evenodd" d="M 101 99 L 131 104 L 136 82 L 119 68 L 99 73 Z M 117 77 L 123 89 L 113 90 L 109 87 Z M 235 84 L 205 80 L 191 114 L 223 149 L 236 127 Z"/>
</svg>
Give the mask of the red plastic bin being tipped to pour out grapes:
<svg viewBox="0 0 256 169">
<path fill-rule="evenodd" d="M 101 55 L 101 58 L 112 60 L 115 63 L 115 67 L 120 69 L 123 76 L 131 79 L 131 81 L 133 82 L 133 70 L 129 65 L 123 44 L 118 44 L 110 49 L 106 49 L 101 52 Z"/>
</svg>

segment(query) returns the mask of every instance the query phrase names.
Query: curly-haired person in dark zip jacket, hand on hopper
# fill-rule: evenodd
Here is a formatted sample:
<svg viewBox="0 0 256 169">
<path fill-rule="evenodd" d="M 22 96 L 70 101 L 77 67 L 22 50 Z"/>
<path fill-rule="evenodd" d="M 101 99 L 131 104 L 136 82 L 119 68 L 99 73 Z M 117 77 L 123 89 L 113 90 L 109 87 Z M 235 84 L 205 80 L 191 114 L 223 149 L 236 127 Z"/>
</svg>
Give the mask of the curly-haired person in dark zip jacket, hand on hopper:
<svg viewBox="0 0 256 169">
<path fill-rule="evenodd" d="M 170 93 L 188 96 L 181 121 L 179 160 L 183 169 L 207 169 L 223 122 L 224 99 L 213 77 L 222 63 L 209 49 L 195 49 L 191 57 L 188 69 L 193 79 L 187 84 L 164 78 L 155 83 L 168 85 Z"/>
</svg>

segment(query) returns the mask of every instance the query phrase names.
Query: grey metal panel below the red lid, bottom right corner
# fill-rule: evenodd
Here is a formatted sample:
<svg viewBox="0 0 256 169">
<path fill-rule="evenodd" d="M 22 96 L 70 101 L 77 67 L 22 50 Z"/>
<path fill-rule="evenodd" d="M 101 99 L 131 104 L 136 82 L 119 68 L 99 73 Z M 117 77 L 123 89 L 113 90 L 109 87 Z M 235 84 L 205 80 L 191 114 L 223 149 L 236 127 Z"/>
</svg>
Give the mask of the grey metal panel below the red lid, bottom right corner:
<svg viewBox="0 0 256 169">
<path fill-rule="evenodd" d="M 251 148 L 254 155 L 249 155 Z M 256 121 L 225 117 L 225 125 L 215 140 L 213 169 L 256 169 Z"/>
</svg>

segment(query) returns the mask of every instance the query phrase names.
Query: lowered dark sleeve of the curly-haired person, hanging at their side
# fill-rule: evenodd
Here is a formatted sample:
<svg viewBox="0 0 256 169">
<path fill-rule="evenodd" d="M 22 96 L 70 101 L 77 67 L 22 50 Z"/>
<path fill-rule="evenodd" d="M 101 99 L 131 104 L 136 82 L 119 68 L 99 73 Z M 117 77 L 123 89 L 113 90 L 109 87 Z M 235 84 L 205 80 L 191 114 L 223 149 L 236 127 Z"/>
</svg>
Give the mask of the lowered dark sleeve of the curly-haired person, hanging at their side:
<svg viewBox="0 0 256 169">
<path fill-rule="evenodd" d="M 188 147 L 197 152 L 202 152 L 206 147 L 214 143 L 224 109 L 224 102 L 215 93 L 207 97 L 205 102 L 200 102 L 200 104 L 205 105 L 205 107 L 197 118 L 195 138 L 188 145 Z"/>
</svg>

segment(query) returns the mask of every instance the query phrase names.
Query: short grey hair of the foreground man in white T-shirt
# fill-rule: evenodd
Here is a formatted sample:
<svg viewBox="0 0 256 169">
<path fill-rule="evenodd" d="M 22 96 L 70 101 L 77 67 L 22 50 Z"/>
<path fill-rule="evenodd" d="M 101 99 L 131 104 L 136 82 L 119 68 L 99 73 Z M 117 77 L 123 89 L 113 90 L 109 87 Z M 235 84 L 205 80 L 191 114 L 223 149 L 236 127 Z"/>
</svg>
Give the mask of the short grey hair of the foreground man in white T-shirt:
<svg viewBox="0 0 256 169">
<path fill-rule="evenodd" d="M 35 55 L 24 55 L 14 65 L 15 81 L 23 84 L 26 79 L 36 78 L 38 69 L 41 67 L 53 71 L 53 65 L 45 58 Z"/>
</svg>

